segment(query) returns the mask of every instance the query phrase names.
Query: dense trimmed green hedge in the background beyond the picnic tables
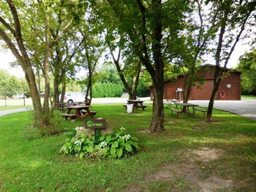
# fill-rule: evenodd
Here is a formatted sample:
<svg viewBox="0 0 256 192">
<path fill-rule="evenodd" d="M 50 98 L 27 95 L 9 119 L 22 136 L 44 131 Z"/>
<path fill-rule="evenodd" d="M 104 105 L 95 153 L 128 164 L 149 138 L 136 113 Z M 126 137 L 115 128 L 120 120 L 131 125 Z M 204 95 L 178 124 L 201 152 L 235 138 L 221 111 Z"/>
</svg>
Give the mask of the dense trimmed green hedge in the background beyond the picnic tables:
<svg viewBox="0 0 256 192">
<path fill-rule="evenodd" d="M 102 97 L 120 97 L 122 96 L 122 84 L 113 83 L 97 83 L 92 86 L 93 96 L 96 98 Z"/>
</svg>

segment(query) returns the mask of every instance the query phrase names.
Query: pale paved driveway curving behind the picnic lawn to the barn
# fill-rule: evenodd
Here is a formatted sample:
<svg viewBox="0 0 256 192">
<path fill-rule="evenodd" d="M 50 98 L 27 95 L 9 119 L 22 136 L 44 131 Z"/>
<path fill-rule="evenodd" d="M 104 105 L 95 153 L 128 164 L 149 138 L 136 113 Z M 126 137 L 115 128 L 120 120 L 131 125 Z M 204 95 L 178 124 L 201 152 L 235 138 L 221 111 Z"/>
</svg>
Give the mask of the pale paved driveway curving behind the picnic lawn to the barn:
<svg viewBox="0 0 256 192">
<path fill-rule="evenodd" d="M 128 98 L 94 98 L 92 104 L 115 104 L 126 103 Z M 145 103 L 152 103 L 149 98 L 139 98 L 140 100 L 147 100 Z M 203 107 L 208 107 L 209 100 L 191 100 L 193 104 L 198 104 Z M 240 101 L 233 100 L 215 100 L 214 108 L 229 111 L 246 118 L 256 121 L 256 99 L 242 99 Z M 29 108 L 18 108 L 0 111 L 0 116 L 30 110 Z"/>
</svg>

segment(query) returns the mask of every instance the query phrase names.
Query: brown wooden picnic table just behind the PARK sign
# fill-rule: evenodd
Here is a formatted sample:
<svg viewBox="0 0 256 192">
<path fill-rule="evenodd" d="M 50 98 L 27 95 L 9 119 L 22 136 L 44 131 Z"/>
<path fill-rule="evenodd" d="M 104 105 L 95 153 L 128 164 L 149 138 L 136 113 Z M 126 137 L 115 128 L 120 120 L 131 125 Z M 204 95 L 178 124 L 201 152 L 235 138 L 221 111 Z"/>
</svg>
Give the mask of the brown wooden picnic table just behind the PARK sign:
<svg viewBox="0 0 256 192">
<path fill-rule="evenodd" d="M 65 118 L 65 120 L 68 119 L 68 117 L 71 120 L 75 120 L 77 118 L 86 118 L 86 117 L 91 117 L 94 118 L 96 115 L 96 111 L 90 111 L 89 110 L 90 106 L 88 105 L 74 105 L 74 106 L 68 106 L 67 107 L 67 113 L 62 113 L 61 116 Z M 71 114 L 71 110 L 74 109 L 75 112 L 74 114 Z"/>
</svg>

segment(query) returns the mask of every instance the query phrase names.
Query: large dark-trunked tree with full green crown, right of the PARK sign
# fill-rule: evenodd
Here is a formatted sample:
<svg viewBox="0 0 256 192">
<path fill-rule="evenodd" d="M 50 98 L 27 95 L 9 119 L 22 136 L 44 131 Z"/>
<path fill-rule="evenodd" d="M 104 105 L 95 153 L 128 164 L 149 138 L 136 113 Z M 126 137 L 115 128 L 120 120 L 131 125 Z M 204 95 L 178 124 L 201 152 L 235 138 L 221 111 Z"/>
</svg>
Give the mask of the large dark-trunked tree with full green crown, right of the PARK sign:
<svg viewBox="0 0 256 192">
<path fill-rule="evenodd" d="M 100 2 L 100 1 L 99 1 Z M 98 2 L 98 3 L 99 3 Z M 108 2 L 108 4 L 106 4 Z M 96 6 L 96 5 L 94 5 Z M 149 72 L 154 85 L 151 131 L 164 130 L 163 82 L 164 44 L 163 38 L 178 33 L 186 1 L 103 1 L 101 7 L 112 12 L 117 34 L 124 35 L 126 42 Z M 112 19 L 112 17 L 108 19 Z M 172 46 L 172 45 L 170 45 Z"/>
</svg>

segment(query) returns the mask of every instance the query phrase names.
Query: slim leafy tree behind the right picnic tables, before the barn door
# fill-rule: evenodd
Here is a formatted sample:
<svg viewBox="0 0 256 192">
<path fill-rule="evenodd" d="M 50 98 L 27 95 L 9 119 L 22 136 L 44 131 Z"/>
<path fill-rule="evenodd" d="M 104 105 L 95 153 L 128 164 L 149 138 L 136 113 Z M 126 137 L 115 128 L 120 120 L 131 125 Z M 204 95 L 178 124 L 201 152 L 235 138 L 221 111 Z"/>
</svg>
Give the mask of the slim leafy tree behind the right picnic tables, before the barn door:
<svg viewBox="0 0 256 192">
<path fill-rule="evenodd" d="M 197 76 L 197 71 L 204 62 L 202 56 L 207 51 L 208 41 L 214 36 L 216 22 L 216 15 L 207 14 L 203 0 L 192 0 L 190 8 L 191 12 L 184 22 L 184 30 L 174 39 L 173 44 L 176 46 L 172 48 L 174 64 L 182 69 L 185 76 L 183 102 L 188 102 L 192 86 L 203 83 L 203 77 Z"/>
</svg>

